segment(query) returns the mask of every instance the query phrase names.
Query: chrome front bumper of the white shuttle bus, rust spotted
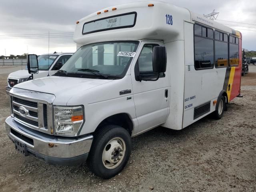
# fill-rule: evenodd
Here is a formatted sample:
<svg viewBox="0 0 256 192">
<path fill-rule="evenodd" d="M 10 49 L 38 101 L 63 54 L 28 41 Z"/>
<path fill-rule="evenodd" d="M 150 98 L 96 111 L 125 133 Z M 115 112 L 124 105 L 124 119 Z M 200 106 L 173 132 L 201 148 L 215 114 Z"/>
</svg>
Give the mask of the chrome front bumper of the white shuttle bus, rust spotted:
<svg viewBox="0 0 256 192">
<path fill-rule="evenodd" d="M 80 138 L 55 137 L 16 124 L 9 116 L 6 121 L 9 138 L 26 146 L 28 154 L 50 164 L 73 165 L 86 161 L 93 136 Z"/>
</svg>

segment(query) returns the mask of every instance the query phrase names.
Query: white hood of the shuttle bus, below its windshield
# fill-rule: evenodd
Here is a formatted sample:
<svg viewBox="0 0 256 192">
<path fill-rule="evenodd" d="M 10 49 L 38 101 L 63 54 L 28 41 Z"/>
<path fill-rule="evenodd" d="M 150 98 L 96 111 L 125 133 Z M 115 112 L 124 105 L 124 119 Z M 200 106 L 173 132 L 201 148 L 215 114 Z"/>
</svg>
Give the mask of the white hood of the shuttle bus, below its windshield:
<svg viewBox="0 0 256 192">
<path fill-rule="evenodd" d="M 74 95 L 83 95 L 86 90 L 111 82 L 106 79 L 88 79 L 63 76 L 48 76 L 16 84 L 15 88 L 54 94 L 58 105 L 66 105 Z"/>
</svg>

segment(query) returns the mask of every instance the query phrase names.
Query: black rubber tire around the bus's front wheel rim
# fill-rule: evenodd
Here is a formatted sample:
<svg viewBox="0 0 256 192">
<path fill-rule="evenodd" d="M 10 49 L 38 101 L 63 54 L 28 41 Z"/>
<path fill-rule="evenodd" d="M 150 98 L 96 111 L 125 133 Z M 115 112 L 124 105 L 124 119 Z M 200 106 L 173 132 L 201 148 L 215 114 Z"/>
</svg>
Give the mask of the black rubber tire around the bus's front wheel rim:
<svg viewBox="0 0 256 192">
<path fill-rule="evenodd" d="M 124 157 L 122 157 L 120 164 L 116 168 L 108 169 L 103 163 L 103 151 L 106 150 L 106 144 L 114 138 L 122 138 L 125 142 L 126 150 L 125 153 L 124 151 L 122 152 Z M 90 171 L 92 171 L 96 176 L 109 179 L 122 171 L 128 162 L 131 151 L 132 140 L 126 129 L 116 125 L 104 126 L 94 134 L 87 164 Z"/>
</svg>

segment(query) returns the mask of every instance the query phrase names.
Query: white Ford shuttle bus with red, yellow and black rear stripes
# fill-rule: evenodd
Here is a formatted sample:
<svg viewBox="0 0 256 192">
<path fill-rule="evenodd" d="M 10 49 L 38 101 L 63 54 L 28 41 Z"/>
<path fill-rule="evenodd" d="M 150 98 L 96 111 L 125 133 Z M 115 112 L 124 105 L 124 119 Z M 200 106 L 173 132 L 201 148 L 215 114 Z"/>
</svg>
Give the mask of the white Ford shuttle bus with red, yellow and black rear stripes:
<svg viewBox="0 0 256 192">
<path fill-rule="evenodd" d="M 222 117 L 240 95 L 241 40 L 238 31 L 164 2 L 99 10 L 77 22 L 78 50 L 56 74 L 10 90 L 7 134 L 25 156 L 87 160 L 97 176 L 111 178 L 126 165 L 132 137 Z M 28 69 L 38 72 L 36 55 Z"/>
</svg>

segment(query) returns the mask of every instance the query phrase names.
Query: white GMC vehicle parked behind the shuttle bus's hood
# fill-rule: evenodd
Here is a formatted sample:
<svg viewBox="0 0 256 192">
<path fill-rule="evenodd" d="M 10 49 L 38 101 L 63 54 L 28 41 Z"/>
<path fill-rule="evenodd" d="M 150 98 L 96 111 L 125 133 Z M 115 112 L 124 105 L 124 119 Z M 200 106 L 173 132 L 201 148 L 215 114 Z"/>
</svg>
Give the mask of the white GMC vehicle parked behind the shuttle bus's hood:
<svg viewBox="0 0 256 192">
<path fill-rule="evenodd" d="M 38 56 L 38 74 L 34 75 L 34 79 L 46 77 L 55 74 L 64 65 L 73 53 L 50 53 Z M 32 80 L 28 70 L 18 70 L 9 74 L 7 78 L 6 93 L 9 94 L 11 88 L 28 80 Z"/>
</svg>

